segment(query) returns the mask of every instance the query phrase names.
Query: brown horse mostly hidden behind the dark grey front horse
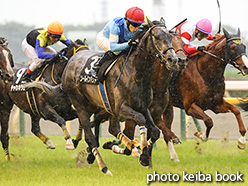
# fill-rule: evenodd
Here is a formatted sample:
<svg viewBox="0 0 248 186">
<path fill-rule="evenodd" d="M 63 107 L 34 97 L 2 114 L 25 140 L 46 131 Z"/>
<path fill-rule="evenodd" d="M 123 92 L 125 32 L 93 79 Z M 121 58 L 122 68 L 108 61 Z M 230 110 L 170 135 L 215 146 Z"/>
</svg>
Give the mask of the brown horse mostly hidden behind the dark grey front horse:
<svg viewBox="0 0 248 186">
<path fill-rule="evenodd" d="M 179 66 L 180 68 L 177 70 L 182 70 L 185 68 L 186 62 L 187 62 L 187 56 L 184 54 L 184 51 L 182 49 L 183 41 L 179 34 L 171 32 L 171 35 L 173 36 L 172 37 L 173 47 L 179 59 L 178 63 L 180 64 Z M 179 138 L 163 124 L 163 120 L 161 118 L 162 113 L 164 112 L 164 110 L 166 109 L 169 103 L 168 85 L 171 80 L 171 73 L 172 73 L 172 70 L 165 68 L 164 64 L 161 64 L 158 59 L 156 60 L 154 64 L 153 74 L 152 74 L 153 100 L 152 100 L 151 105 L 149 106 L 149 110 L 150 110 L 151 116 L 155 124 L 158 126 L 158 128 L 163 133 L 164 140 L 168 146 L 171 159 L 177 162 L 179 161 L 179 159 L 174 150 L 172 142 L 174 144 L 180 144 L 181 142 Z M 96 135 L 99 133 L 98 130 L 99 130 L 100 123 L 102 121 L 107 120 L 108 118 L 109 118 L 109 115 L 103 111 L 100 111 L 94 115 L 94 121 L 92 121 L 92 125 L 95 126 L 96 128 L 96 132 L 95 132 Z M 134 138 L 135 126 L 136 124 L 133 121 L 125 121 L 125 128 L 123 130 L 123 133 L 126 134 L 130 139 Z M 148 131 L 147 139 L 149 138 L 150 137 L 149 137 L 149 131 Z M 121 150 L 118 147 L 113 147 L 114 145 L 117 145 L 114 141 L 106 142 L 103 145 L 103 147 L 105 149 L 112 149 L 115 153 L 122 153 L 122 154 L 130 155 L 130 152 L 128 151 L 128 149 Z M 150 158 L 149 166 L 150 167 L 152 166 L 151 158 Z"/>
</svg>

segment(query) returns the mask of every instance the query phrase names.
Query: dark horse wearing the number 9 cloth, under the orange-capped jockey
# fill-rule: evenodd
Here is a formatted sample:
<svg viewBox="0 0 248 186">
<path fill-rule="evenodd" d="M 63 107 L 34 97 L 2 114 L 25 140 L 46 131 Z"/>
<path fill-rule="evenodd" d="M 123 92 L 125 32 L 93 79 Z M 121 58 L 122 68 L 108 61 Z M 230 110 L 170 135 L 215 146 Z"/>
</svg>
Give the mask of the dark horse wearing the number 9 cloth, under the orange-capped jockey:
<svg viewBox="0 0 248 186">
<path fill-rule="evenodd" d="M 59 54 L 61 57 L 55 57 L 45 62 L 44 67 L 39 75 L 39 80 L 49 83 L 52 86 L 61 83 L 61 77 L 68 59 L 80 50 L 88 49 L 86 41 L 77 40 L 72 42 L 68 47 L 62 49 Z M 21 76 L 25 69 L 17 71 L 17 75 Z M 17 78 L 18 79 L 18 78 Z M 41 118 L 57 123 L 64 132 L 67 140 L 66 149 L 73 150 L 74 145 L 71 136 L 66 129 L 66 121 L 77 118 L 75 109 L 72 108 L 69 98 L 65 94 L 59 94 L 49 97 L 40 89 L 32 89 L 27 91 L 13 91 L 13 84 L 8 86 L 8 95 L 13 102 L 24 112 L 28 113 L 32 120 L 32 133 L 34 133 L 48 149 L 54 149 L 53 142 L 45 136 L 40 129 L 39 121 Z M 63 104 L 61 104 L 63 103 Z"/>
</svg>

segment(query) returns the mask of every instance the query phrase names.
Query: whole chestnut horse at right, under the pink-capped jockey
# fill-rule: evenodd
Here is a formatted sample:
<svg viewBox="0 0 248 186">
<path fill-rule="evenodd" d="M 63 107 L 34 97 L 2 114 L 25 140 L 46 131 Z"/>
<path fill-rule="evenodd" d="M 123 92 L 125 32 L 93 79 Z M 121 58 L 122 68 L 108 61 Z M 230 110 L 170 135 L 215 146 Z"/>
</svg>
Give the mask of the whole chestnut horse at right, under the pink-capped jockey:
<svg viewBox="0 0 248 186">
<path fill-rule="evenodd" d="M 237 34 L 229 34 L 223 29 L 224 35 L 216 38 L 207 46 L 207 50 L 190 57 L 186 68 L 169 86 L 170 104 L 163 114 L 168 128 L 173 120 L 173 106 L 185 109 L 186 114 L 203 120 L 206 125 L 205 136 L 196 134 L 207 140 L 213 127 L 212 119 L 204 112 L 232 112 L 238 122 L 241 137 L 238 147 L 245 148 L 245 133 L 239 109 L 223 99 L 225 92 L 224 71 L 227 64 L 233 65 L 243 75 L 248 73 L 248 60 L 245 55 L 246 46 Z"/>
</svg>

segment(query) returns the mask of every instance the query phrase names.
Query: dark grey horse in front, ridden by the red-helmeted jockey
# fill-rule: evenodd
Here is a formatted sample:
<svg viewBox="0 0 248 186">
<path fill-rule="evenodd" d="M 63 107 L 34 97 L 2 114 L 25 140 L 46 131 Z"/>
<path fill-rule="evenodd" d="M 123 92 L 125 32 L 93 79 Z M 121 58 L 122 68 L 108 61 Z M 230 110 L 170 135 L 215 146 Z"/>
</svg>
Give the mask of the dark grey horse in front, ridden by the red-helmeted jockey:
<svg viewBox="0 0 248 186">
<path fill-rule="evenodd" d="M 154 60 L 151 58 L 159 57 L 161 62 L 167 63 L 167 66 L 172 66 L 178 61 L 172 47 L 172 36 L 167 28 L 164 25 L 153 25 L 150 21 L 148 23 L 149 30 L 140 39 L 137 49 L 130 54 L 117 86 L 114 87 L 114 84 L 124 64 L 125 55 L 117 59 L 104 82 L 111 108 L 109 132 L 124 143 L 129 150 L 132 150 L 132 142 L 120 131 L 119 121 L 133 120 L 139 125 L 141 150 L 143 151 L 140 163 L 144 166 L 149 165 L 148 148 L 159 138 L 159 129 L 154 124 L 148 110 L 152 98 L 151 79 L 154 66 Z M 90 156 L 94 155 L 102 172 L 111 175 L 112 173 L 100 156 L 97 140 L 90 126 L 91 115 L 99 107 L 104 108 L 98 85 L 80 83 L 81 71 L 87 60 L 95 54 L 94 51 L 80 51 L 74 55 L 63 73 L 62 87 L 77 110 L 80 124 L 84 128 Z M 152 131 L 152 137 L 148 143 L 145 137 L 145 127 Z"/>
</svg>

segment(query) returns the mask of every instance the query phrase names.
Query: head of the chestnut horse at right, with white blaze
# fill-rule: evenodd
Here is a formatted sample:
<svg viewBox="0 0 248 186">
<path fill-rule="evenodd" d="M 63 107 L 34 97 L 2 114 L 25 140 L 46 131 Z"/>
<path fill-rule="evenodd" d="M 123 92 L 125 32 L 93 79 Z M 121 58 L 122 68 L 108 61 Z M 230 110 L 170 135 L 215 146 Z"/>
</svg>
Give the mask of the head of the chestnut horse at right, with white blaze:
<svg viewBox="0 0 248 186">
<path fill-rule="evenodd" d="M 226 37 L 225 61 L 240 70 L 242 75 L 247 75 L 248 59 L 246 56 L 246 46 L 241 41 L 240 30 L 238 29 L 237 34 L 229 34 L 224 28 L 223 31 Z"/>
</svg>

